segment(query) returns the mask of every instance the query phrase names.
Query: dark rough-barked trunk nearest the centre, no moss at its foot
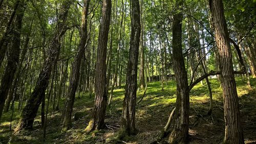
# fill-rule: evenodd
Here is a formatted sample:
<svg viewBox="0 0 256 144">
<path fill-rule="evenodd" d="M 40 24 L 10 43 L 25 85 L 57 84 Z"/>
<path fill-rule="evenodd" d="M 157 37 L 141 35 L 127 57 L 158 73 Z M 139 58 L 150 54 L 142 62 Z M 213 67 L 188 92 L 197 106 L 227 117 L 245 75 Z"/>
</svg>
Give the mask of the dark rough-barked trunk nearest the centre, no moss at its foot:
<svg viewBox="0 0 256 144">
<path fill-rule="evenodd" d="M 141 32 L 139 0 L 131 0 L 131 22 L 132 32 L 130 39 L 130 52 L 127 66 L 120 138 L 125 135 L 131 135 L 136 133 L 135 107 L 139 43 Z"/>
</svg>

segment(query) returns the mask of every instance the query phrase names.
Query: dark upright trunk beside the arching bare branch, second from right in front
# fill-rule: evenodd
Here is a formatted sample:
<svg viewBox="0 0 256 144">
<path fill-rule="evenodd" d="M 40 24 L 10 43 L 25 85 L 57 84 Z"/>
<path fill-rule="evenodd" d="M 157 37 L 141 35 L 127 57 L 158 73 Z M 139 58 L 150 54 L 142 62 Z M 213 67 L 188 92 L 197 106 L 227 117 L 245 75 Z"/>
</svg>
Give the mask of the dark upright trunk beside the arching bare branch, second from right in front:
<svg viewBox="0 0 256 144">
<path fill-rule="evenodd" d="M 183 7 L 183 0 L 176 4 L 177 7 Z M 187 73 L 182 54 L 182 17 L 179 12 L 174 15 L 173 21 L 173 60 L 174 72 L 176 78 L 176 110 L 175 125 L 172 134 L 169 136 L 170 143 L 187 143 L 188 142 L 188 124 L 189 124 L 189 90 L 187 82 Z"/>
</svg>

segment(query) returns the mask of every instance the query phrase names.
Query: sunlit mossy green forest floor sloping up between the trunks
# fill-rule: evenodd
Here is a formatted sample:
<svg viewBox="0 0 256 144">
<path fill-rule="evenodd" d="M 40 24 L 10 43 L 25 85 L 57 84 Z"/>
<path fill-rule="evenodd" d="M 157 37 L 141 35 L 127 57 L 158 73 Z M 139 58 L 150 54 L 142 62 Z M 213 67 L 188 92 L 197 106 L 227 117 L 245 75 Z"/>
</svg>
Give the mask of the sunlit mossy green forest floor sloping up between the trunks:
<svg viewBox="0 0 256 144">
<path fill-rule="evenodd" d="M 224 138 L 224 114 L 223 98 L 220 83 L 211 79 L 213 94 L 212 115 L 206 113 L 209 106 L 207 85 L 196 85 L 190 91 L 190 115 L 189 135 L 190 143 L 222 143 Z M 236 79 L 239 94 L 239 104 L 246 143 L 256 143 L 256 79 L 251 79 L 252 89 L 246 86 L 240 78 Z M 164 128 L 170 112 L 175 107 L 176 84 L 169 81 L 161 90 L 159 82 L 149 83 L 145 98 L 137 105 L 136 127 L 138 134 L 129 137 L 123 143 L 150 143 L 159 136 Z M 139 91 L 137 99 L 142 97 L 143 91 Z M 111 107 L 106 110 L 106 128 L 102 131 L 95 131 L 90 134 L 84 133 L 88 125 L 91 112 L 94 106 L 94 98 L 86 94 L 82 98 L 76 98 L 72 118 L 73 127 L 66 133 L 59 130 L 61 110 L 52 111 L 48 116 L 48 127 L 46 140 L 43 139 L 43 132 L 40 127 L 40 110 L 34 122 L 33 130 L 24 130 L 13 134 L 17 126 L 20 111 L 15 107 L 13 114 L 12 130 L 9 131 L 10 117 L 12 111 L 3 114 L 0 125 L 0 143 L 112 143 L 118 134 L 120 117 L 122 114 L 122 103 L 124 87 L 115 89 Z M 60 108 L 64 101 L 61 101 Z M 16 104 L 17 105 L 17 104 Z M 167 140 L 167 138 L 166 138 Z"/>
</svg>

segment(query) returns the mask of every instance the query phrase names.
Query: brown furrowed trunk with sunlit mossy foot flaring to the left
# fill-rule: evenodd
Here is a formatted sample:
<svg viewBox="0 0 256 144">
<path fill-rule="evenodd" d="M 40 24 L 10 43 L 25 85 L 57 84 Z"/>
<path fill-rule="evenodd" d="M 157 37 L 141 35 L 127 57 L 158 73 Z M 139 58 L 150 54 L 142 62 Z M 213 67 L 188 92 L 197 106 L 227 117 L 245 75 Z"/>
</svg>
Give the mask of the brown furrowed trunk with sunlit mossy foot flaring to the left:
<svg viewBox="0 0 256 144">
<path fill-rule="evenodd" d="M 111 18 L 111 0 L 104 0 L 102 4 L 102 19 L 97 49 L 97 62 L 95 70 L 95 107 L 93 117 L 86 128 L 87 132 L 104 127 L 106 101 L 106 48 Z"/>
</svg>

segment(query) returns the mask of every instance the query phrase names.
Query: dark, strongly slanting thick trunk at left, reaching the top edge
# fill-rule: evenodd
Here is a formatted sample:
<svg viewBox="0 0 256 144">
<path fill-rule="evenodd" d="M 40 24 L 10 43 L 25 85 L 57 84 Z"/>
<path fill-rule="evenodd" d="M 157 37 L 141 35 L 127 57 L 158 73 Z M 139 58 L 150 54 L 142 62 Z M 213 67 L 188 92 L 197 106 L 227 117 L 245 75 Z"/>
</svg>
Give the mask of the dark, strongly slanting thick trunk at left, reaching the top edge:
<svg viewBox="0 0 256 144">
<path fill-rule="evenodd" d="M 22 130 L 24 128 L 32 128 L 33 122 L 42 99 L 44 99 L 46 88 L 49 84 L 49 79 L 51 76 L 52 66 L 57 61 L 60 52 L 60 38 L 66 32 L 66 19 L 68 16 L 68 11 L 72 5 L 73 0 L 67 0 L 62 3 L 62 7 L 59 11 L 57 31 L 49 45 L 48 58 L 42 66 L 42 70 L 38 76 L 36 86 L 31 93 L 29 100 L 24 107 L 22 114 L 20 116 L 19 124 L 15 129 L 15 132 Z"/>
</svg>

